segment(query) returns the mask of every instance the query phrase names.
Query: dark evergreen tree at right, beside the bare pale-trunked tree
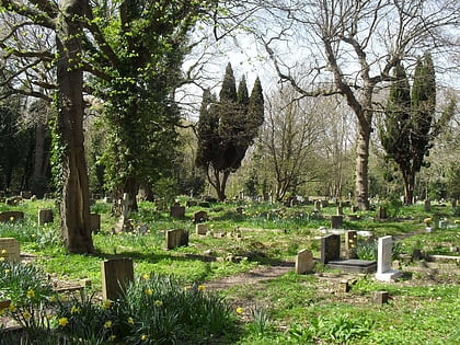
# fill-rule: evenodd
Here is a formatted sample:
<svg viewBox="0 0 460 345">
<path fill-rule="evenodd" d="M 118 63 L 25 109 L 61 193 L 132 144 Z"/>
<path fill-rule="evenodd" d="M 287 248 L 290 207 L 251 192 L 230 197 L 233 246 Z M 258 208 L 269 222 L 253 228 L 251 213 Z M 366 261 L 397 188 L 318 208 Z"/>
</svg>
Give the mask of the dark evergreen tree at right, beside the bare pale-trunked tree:
<svg viewBox="0 0 460 345">
<path fill-rule="evenodd" d="M 429 152 L 430 141 L 439 131 L 438 124 L 434 123 L 436 81 L 430 55 L 425 54 L 416 65 L 412 94 L 401 64 L 395 67 L 394 77 L 380 140 L 387 158 L 394 160 L 402 173 L 404 203 L 411 204 L 415 175 Z"/>
</svg>

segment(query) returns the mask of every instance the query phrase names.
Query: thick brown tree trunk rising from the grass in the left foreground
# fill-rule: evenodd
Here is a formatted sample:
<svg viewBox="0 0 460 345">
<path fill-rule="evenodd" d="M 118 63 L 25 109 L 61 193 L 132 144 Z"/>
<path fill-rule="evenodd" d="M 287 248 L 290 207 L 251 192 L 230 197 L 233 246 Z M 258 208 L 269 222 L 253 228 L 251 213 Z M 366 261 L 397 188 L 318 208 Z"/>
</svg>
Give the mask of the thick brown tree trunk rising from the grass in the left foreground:
<svg viewBox="0 0 460 345">
<path fill-rule="evenodd" d="M 58 130 L 65 145 L 60 229 L 70 253 L 94 251 L 90 229 L 90 198 L 83 146 L 83 72 L 78 23 L 82 1 L 62 0 L 57 30 Z"/>
</svg>

